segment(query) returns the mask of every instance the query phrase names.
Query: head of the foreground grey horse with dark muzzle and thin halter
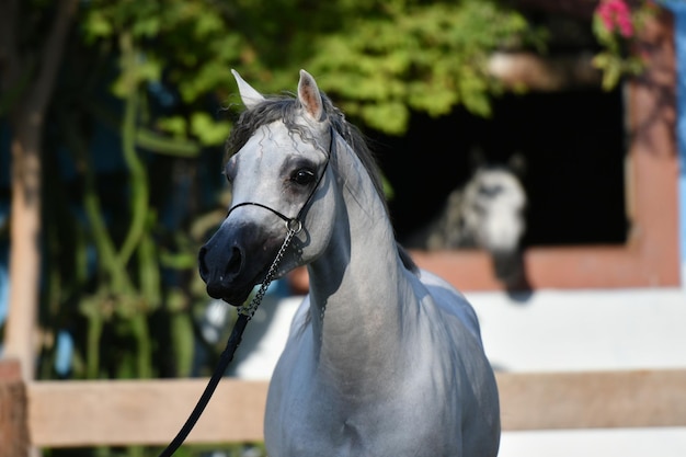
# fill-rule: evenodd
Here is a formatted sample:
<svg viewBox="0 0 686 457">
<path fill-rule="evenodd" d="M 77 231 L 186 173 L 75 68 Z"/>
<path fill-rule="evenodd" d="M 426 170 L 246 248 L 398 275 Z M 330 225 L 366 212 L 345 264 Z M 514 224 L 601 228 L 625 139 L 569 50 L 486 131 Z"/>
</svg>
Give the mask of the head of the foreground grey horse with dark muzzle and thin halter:
<svg viewBox="0 0 686 457">
<path fill-rule="evenodd" d="M 207 293 L 240 306 L 264 279 L 289 229 L 298 235 L 277 277 L 308 263 L 328 242 L 334 197 L 327 171 L 335 134 L 305 70 L 295 99 L 264 98 L 232 72 L 245 111 L 227 141 L 231 206 L 198 263 Z"/>
</svg>

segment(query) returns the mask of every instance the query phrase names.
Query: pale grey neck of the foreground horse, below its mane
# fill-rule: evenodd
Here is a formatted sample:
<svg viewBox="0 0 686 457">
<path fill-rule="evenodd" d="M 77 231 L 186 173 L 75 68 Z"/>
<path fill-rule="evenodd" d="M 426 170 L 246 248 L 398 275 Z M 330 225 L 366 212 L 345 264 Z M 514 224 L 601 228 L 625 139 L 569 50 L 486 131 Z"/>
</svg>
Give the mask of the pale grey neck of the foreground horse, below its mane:
<svg viewBox="0 0 686 457">
<path fill-rule="evenodd" d="M 396 372 L 389 364 L 402 351 L 401 318 L 416 300 L 384 203 L 354 153 L 344 152 L 336 168 L 346 210 L 327 252 L 309 265 L 310 312 L 320 367 L 369 392 L 369 382 L 384 382 L 381 367 Z"/>
</svg>

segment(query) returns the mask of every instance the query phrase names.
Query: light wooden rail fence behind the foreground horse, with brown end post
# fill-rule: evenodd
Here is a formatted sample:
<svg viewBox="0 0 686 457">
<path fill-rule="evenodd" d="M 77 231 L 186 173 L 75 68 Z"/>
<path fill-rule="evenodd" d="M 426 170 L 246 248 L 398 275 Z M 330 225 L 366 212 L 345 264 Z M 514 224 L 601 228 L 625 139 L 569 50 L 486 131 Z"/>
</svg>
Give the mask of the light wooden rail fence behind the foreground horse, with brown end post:
<svg viewBox="0 0 686 457">
<path fill-rule="evenodd" d="M 503 431 L 686 426 L 686 369 L 496 377 Z M 27 455 L 30 446 L 165 445 L 206 382 L 24 385 L 18 365 L 0 362 L 0 457 Z M 186 443 L 261 441 L 266 389 L 266 381 L 224 379 Z"/>
</svg>

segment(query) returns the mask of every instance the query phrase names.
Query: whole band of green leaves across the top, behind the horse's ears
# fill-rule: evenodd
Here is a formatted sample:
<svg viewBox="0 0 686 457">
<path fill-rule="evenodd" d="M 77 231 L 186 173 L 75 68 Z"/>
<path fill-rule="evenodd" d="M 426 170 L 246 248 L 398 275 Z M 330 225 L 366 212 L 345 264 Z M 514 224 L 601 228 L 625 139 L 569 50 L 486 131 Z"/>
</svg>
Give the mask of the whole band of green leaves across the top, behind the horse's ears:
<svg viewBox="0 0 686 457">
<path fill-rule="evenodd" d="M 396 135 L 407 130 L 411 111 L 439 116 L 464 104 L 488 116 L 502 91 L 487 71 L 490 53 L 541 42 L 521 13 L 493 0 L 305 3 L 101 0 L 83 30 L 89 42 L 125 32 L 138 48 L 114 83 L 122 96 L 132 81 L 164 79 L 206 113 L 205 95 L 227 101 L 235 93 L 231 67 L 267 93 L 295 89 L 297 70 L 307 68 L 348 115 Z M 228 123 L 191 117 L 162 117 L 156 127 L 205 145 L 222 141 Z"/>
</svg>

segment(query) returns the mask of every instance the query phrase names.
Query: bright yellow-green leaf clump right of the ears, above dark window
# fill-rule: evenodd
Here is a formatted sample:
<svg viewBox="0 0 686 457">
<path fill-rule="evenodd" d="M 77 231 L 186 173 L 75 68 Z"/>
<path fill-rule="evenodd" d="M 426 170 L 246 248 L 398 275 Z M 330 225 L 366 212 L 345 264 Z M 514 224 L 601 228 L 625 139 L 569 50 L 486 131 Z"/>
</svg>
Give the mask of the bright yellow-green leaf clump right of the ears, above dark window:
<svg viewBox="0 0 686 457">
<path fill-rule="evenodd" d="M 401 135 L 410 111 L 439 116 L 464 104 L 490 115 L 502 90 L 487 71 L 490 54 L 535 38 L 522 14 L 496 2 L 395 2 L 322 37 L 309 67 L 347 113 Z"/>
</svg>

